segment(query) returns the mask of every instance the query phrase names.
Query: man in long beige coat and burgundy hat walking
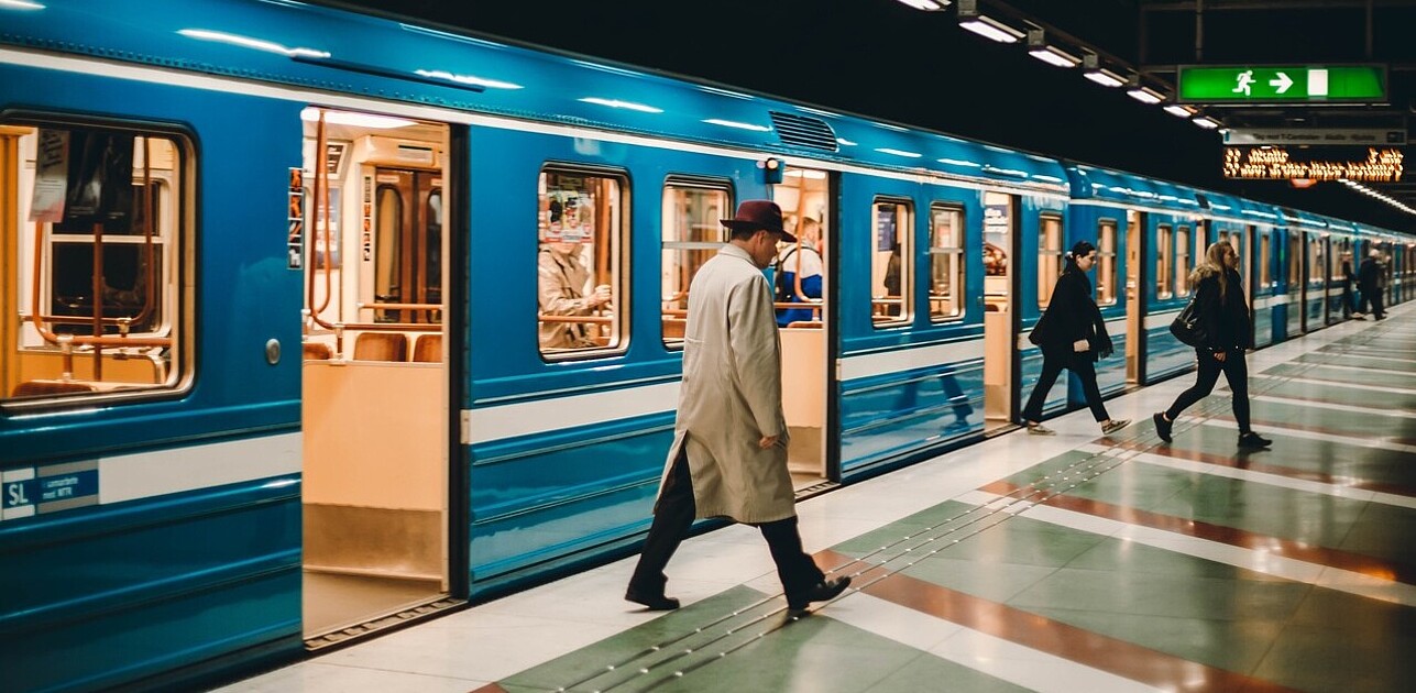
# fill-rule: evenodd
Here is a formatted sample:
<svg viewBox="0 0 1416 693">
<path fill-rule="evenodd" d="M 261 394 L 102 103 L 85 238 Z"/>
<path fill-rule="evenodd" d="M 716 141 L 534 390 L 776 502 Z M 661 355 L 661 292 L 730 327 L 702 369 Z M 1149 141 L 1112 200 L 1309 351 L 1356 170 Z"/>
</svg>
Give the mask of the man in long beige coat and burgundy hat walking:
<svg viewBox="0 0 1416 693">
<path fill-rule="evenodd" d="M 732 239 L 690 284 L 674 444 L 624 598 L 654 611 L 678 608 L 678 600 L 664 595 L 668 559 L 695 518 L 731 518 L 762 530 L 787 608 L 801 611 L 841 594 L 851 578 L 826 580 L 801 550 L 787 472 L 782 345 L 762 270 L 776 257 L 777 242 L 796 238 L 766 199 L 743 202 L 722 223 Z"/>
</svg>

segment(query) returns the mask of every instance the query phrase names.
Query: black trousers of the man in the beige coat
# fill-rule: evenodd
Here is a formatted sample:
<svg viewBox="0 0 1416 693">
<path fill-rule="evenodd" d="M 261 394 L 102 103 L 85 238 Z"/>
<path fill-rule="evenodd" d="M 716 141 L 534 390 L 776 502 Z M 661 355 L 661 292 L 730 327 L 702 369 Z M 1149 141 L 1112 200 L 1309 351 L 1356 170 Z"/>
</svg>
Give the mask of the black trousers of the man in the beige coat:
<svg viewBox="0 0 1416 693">
<path fill-rule="evenodd" d="M 664 586 L 668 583 L 664 567 L 678 550 L 678 544 L 688 533 L 688 528 L 692 526 L 697 512 L 685 444 L 680 447 L 678 458 L 674 460 L 674 467 L 670 470 L 668 478 L 664 479 L 664 488 L 658 491 L 654 522 L 649 526 L 644 552 L 639 554 L 634 576 L 629 580 L 630 591 L 644 595 L 664 594 Z M 816 561 L 801 550 L 801 535 L 797 532 L 796 516 L 763 522 L 756 528 L 767 540 L 767 549 L 772 552 L 772 560 L 777 564 L 777 576 L 782 578 L 787 601 L 799 601 L 797 595 L 804 594 L 826 578 Z"/>
</svg>

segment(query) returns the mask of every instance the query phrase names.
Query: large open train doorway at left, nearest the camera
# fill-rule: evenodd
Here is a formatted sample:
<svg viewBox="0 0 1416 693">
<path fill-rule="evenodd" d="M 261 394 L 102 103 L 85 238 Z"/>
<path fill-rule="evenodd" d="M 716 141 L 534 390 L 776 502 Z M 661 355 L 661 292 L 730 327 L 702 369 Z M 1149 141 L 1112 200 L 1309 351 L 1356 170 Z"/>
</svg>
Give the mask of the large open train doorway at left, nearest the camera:
<svg viewBox="0 0 1416 693">
<path fill-rule="evenodd" d="M 452 164 L 440 123 L 302 117 L 290 262 L 306 272 L 303 622 L 317 649 L 450 604 Z"/>
</svg>

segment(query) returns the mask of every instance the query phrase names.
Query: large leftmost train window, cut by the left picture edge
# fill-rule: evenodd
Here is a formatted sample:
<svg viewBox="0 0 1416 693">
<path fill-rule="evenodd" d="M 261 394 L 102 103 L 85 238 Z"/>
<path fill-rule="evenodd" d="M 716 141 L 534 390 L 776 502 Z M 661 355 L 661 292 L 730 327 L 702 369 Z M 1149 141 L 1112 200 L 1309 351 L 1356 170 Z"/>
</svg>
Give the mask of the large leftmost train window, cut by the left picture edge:
<svg viewBox="0 0 1416 693">
<path fill-rule="evenodd" d="M 120 126 L 0 124 L 0 400 L 169 390 L 193 359 L 190 143 Z"/>
</svg>

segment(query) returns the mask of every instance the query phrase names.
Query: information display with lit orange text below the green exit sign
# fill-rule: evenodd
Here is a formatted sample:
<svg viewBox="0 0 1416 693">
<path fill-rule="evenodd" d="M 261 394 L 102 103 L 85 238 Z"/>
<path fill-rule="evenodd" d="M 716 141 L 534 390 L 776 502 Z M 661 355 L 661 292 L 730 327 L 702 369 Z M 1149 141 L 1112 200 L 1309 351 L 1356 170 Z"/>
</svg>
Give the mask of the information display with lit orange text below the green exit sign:
<svg viewBox="0 0 1416 693">
<path fill-rule="evenodd" d="M 1352 148 L 1341 148 L 1351 153 Z M 1347 160 L 1332 157 L 1331 150 L 1303 150 L 1296 156 L 1283 147 L 1225 147 L 1225 178 L 1286 181 L 1308 178 L 1335 181 L 1345 178 L 1365 182 L 1396 182 L 1402 180 L 1402 151 L 1398 148 L 1365 150 L 1365 156 Z M 1332 158 L 1320 158 L 1320 157 Z"/>
</svg>

